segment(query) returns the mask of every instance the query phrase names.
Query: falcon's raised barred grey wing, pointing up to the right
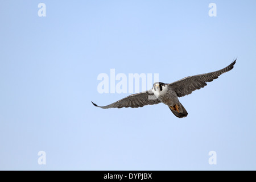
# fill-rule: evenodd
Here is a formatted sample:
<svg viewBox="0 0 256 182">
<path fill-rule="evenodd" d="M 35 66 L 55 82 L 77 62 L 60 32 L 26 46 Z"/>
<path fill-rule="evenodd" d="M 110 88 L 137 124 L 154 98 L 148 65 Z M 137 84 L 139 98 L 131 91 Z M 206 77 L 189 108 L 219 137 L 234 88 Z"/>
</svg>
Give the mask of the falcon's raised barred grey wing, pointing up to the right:
<svg viewBox="0 0 256 182">
<path fill-rule="evenodd" d="M 234 64 L 236 64 L 236 60 L 228 65 L 228 67 L 220 69 L 219 71 L 185 77 L 181 80 L 169 84 L 168 86 L 170 86 L 170 88 L 176 92 L 178 97 L 183 97 L 185 95 L 191 94 L 194 90 L 203 88 L 207 85 L 206 82 L 213 81 L 222 73 L 230 71 L 233 69 Z"/>
</svg>

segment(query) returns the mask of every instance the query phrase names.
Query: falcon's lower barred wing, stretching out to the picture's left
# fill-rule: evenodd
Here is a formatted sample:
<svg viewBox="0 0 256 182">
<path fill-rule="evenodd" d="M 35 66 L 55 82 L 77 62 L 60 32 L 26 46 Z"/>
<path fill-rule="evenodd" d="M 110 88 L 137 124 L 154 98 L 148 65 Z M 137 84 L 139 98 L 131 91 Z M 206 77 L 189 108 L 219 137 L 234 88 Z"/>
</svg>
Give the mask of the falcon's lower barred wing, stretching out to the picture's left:
<svg viewBox="0 0 256 182">
<path fill-rule="evenodd" d="M 151 90 L 146 92 L 132 94 L 128 97 L 122 98 L 121 100 L 114 102 L 107 106 L 98 106 L 92 102 L 94 106 L 101 107 L 102 109 L 108 108 L 122 108 L 122 107 L 143 107 L 146 105 L 159 104 L 160 101 L 155 97 Z"/>
</svg>

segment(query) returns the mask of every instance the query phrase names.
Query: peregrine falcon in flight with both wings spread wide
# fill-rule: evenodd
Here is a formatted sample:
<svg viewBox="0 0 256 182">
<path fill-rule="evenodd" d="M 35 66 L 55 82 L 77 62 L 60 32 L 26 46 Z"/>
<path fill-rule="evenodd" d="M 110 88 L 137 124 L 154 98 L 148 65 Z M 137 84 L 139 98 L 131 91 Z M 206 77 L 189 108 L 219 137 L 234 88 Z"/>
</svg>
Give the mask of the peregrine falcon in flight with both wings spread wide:
<svg viewBox="0 0 256 182">
<path fill-rule="evenodd" d="M 166 104 L 172 113 L 178 118 L 187 117 L 188 112 L 180 103 L 178 97 L 183 97 L 191 94 L 194 90 L 203 88 L 207 85 L 206 82 L 213 81 L 222 73 L 233 69 L 236 60 L 234 60 L 228 67 L 220 69 L 216 72 L 205 73 L 201 75 L 188 76 L 181 80 L 172 82 L 171 84 L 164 84 L 163 82 L 155 82 L 153 88 L 145 92 L 132 94 L 128 97 L 114 102 L 107 106 L 98 106 L 92 102 L 94 106 L 102 109 L 108 108 L 122 108 L 122 107 L 143 107 L 145 105 L 159 104 L 163 102 Z"/>
</svg>

